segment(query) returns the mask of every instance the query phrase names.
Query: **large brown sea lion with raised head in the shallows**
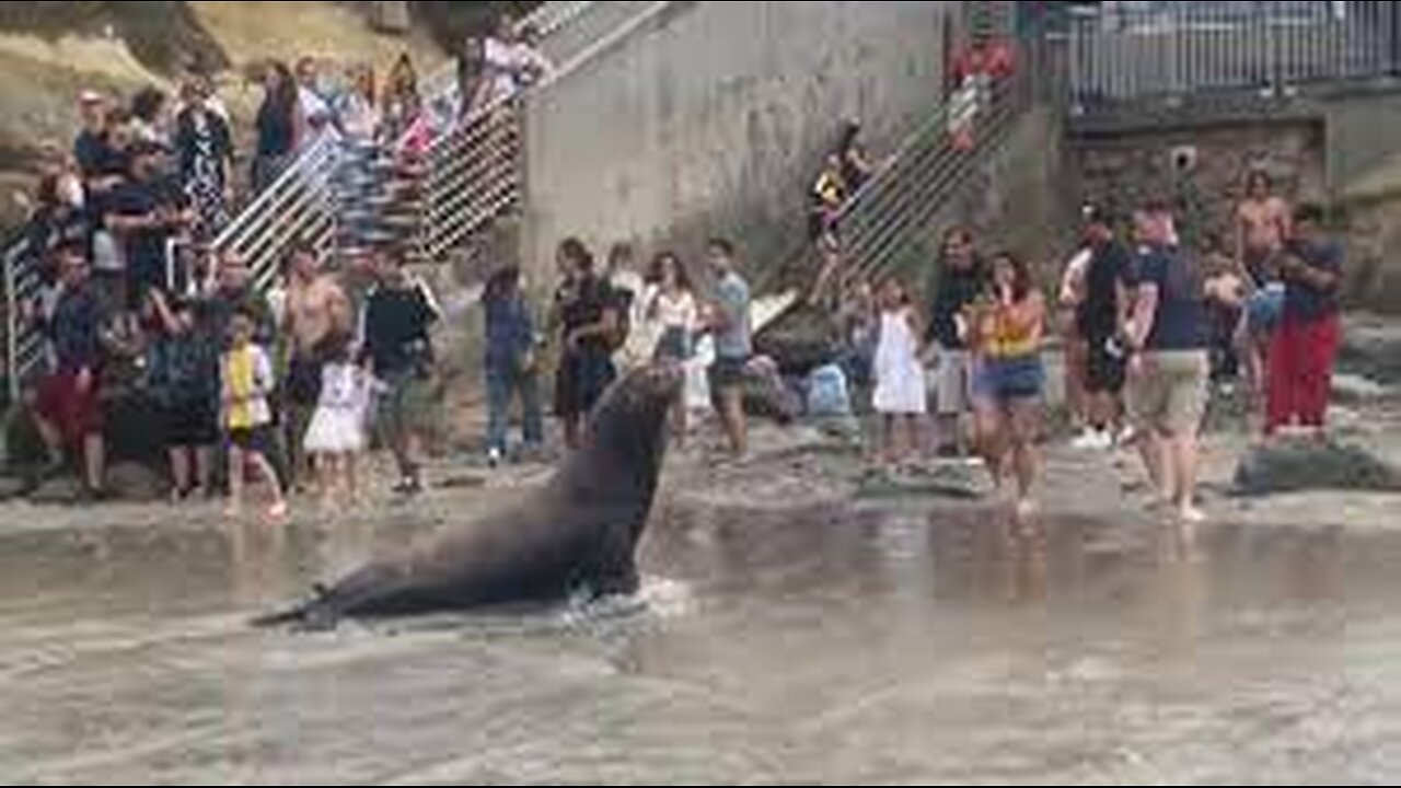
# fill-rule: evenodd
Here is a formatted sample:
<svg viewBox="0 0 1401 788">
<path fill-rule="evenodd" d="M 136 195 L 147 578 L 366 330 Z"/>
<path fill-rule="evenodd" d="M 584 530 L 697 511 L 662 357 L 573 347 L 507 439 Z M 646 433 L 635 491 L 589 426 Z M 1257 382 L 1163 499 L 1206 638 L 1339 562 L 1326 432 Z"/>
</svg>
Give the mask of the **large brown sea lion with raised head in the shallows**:
<svg viewBox="0 0 1401 788">
<path fill-rule="evenodd" d="M 374 561 L 310 602 L 254 624 L 326 630 L 347 617 L 636 592 L 636 548 L 661 475 L 667 412 L 681 384 L 677 369 L 635 370 L 595 407 L 583 449 L 520 506 Z"/>
</svg>

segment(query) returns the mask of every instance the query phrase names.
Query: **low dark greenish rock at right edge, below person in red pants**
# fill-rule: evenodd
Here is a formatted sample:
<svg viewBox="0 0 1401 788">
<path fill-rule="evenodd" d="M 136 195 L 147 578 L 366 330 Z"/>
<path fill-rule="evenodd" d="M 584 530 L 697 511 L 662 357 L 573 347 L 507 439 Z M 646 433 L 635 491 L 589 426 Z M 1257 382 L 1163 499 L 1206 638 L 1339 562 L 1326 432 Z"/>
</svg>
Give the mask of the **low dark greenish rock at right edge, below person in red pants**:
<svg viewBox="0 0 1401 788">
<path fill-rule="evenodd" d="M 1231 492 L 1262 496 L 1314 489 L 1401 492 L 1401 473 L 1358 446 L 1288 440 L 1247 453 Z"/>
</svg>

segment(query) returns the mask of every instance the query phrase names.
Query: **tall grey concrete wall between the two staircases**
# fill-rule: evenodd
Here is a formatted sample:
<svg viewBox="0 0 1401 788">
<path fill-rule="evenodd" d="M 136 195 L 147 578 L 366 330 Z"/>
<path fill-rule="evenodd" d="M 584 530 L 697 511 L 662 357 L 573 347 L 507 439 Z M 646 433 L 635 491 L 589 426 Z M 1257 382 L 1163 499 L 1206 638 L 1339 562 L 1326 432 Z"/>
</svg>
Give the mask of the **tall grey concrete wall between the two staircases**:
<svg viewBox="0 0 1401 788">
<path fill-rule="evenodd" d="M 960 6 L 663 4 L 528 108 L 527 265 L 570 234 L 692 250 L 713 233 L 778 265 L 842 118 L 890 150 L 939 101 Z"/>
</svg>

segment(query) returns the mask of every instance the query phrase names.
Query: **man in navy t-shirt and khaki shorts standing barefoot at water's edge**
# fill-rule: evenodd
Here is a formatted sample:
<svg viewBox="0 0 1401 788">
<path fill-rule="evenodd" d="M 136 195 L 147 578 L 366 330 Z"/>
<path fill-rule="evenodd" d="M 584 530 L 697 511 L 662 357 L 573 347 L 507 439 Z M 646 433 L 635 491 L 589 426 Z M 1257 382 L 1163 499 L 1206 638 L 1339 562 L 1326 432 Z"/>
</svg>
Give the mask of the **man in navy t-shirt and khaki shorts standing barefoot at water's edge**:
<svg viewBox="0 0 1401 788">
<path fill-rule="evenodd" d="M 1129 275 L 1126 327 L 1129 415 L 1157 489 L 1184 523 L 1196 509 L 1196 437 L 1206 411 L 1208 324 L 1203 286 L 1175 244 L 1173 212 L 1150 203 L 1136 217 L 1139 251 Z"/>
</svg>

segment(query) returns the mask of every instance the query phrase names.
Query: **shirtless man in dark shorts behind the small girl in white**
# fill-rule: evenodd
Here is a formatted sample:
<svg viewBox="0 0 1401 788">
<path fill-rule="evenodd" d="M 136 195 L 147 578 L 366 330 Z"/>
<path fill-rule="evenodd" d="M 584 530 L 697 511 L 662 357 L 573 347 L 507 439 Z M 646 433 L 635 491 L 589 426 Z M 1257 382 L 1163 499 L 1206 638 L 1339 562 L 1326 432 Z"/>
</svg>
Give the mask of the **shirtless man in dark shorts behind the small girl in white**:
<svg viewBox="0 0 1401 788">
<path fill-rule="evenodd" d="M 308 470 L 301 439 L 321 397 L 321 349 L 328 339 L 354 328 L 350 300 L 331 273 L 321 271 L 315 250 L 293 248 L 287 258 L 287 300 L 283 315 L 290 345 L 287 366 L 287 449 L 293 481 Z"/>
</svg>

